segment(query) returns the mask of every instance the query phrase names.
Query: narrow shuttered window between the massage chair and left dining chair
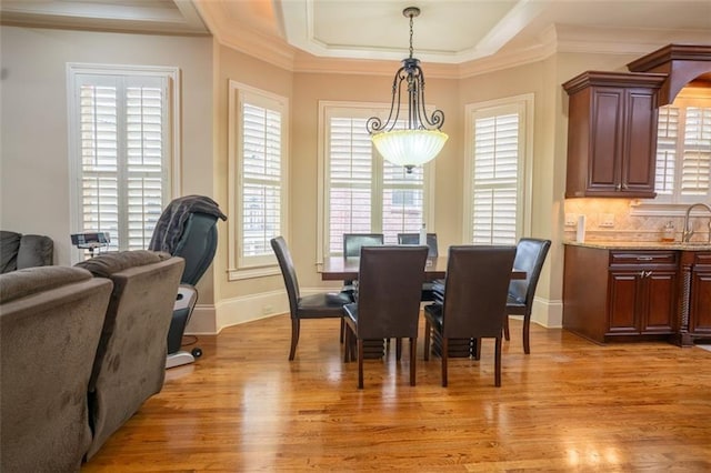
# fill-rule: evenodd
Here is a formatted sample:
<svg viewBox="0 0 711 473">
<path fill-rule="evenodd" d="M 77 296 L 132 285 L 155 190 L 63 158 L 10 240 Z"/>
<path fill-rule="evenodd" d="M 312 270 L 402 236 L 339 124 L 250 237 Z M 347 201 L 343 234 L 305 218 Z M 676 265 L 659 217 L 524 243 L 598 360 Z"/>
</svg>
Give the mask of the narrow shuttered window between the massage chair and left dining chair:
<svg viewBox="0 0 711 473">
<path fill-rule="evenodd" d="M 288 100 L 230 81 L 230 279 L 276 274 L 287 235 Z"/>
</svg>

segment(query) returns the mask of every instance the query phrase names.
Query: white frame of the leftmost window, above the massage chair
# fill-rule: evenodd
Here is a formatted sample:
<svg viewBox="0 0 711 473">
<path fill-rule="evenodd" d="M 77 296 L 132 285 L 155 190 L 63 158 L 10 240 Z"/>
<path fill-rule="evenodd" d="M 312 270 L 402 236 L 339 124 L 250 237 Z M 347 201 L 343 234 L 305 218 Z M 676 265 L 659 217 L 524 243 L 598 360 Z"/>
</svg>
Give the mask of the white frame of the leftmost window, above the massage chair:
<svg viewBox="0 0 711 473">
<path fill-rule="evenodd" d="M 94 63 L 67 63 L 67 122 L 69 134 L 69 222 L 72 232 L 82 232 L 86 229 L 80 228 L 82 221 L 82 171 L 81 171 L 81 130 L 79 127 L 80 100 L 78 98 L 78 85 L 80 76 L 96 76 L 97 78 L 121 76 L 124 78 L 153 77 L 161 78 L 167 81 L 167 110 L 166 120 L 169 135 L 166 137 L 163 144 L 166 145 L 167 165 L 164 175 L 168 177 L 167 187 L 163 195 L 168 199 L 174 199 L 180 194 L 181 172 L 180 162 L 182 155 L 181 148 L 181 76 L 180 69 L 177 67 L 160 66 L 130 66 L 130 64 L 94 64 Z M 121 107 L 121 105 L 120 105 Z M 168 202 L 166 202 L 167 204 Z M 70 252 L 70 261 L 72 264 L 82 261 L 86 258 L 86 251 L 72 248 Z"/>
</svg>

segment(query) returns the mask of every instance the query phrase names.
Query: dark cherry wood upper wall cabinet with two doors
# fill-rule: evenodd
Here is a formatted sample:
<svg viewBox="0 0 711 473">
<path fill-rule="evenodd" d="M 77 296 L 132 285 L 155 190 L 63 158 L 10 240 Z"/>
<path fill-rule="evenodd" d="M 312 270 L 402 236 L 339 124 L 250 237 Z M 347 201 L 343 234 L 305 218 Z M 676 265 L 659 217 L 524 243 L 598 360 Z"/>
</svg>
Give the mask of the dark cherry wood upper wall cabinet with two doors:
<svg viewBox="0 0 711 473">
<path fill-rule="evenodd" d="M 653 198 L 658 91 L 665 73 L 588 71 L 563 84 L 567 198 Z"/>
</svg>

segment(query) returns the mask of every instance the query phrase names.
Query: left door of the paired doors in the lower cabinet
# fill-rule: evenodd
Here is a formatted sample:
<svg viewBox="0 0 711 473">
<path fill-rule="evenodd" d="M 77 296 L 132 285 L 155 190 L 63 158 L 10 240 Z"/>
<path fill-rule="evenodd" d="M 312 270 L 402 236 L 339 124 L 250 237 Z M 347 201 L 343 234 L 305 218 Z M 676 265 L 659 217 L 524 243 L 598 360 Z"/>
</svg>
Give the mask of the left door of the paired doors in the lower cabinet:
<svg viewBox="0 0 711 473">
<path fill-rule="evenodd" d="M 639 271 L 610 271 L 608 290 L 608 333 L 639 333 Z"/>
</svg>

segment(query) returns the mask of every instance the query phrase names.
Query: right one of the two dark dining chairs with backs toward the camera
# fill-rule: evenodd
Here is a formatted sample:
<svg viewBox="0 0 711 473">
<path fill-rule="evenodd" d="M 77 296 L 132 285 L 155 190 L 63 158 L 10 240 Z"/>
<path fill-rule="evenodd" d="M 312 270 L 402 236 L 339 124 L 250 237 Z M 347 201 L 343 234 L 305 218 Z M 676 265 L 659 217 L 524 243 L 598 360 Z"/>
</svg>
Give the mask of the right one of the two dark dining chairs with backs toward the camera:
<svg viewBox="0 0 711 473">
<path fill-rule="evenodd" d="M 474 339 L 478 360 L 483 338 L 495 340 L 494 384 L 501 385 L 501 338 L 514 256 L 513 245 L 450 246 L 443 303 L 424 308 L 424 360 L 430 356 L 430 339 L 437 338 L 442 386 L 448 384 L 449 339 Z"/>
</svg>

